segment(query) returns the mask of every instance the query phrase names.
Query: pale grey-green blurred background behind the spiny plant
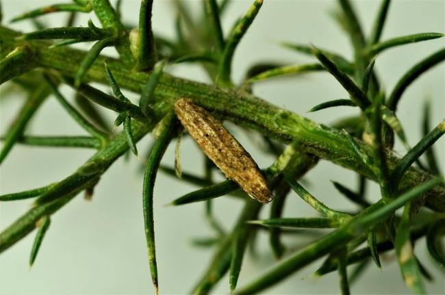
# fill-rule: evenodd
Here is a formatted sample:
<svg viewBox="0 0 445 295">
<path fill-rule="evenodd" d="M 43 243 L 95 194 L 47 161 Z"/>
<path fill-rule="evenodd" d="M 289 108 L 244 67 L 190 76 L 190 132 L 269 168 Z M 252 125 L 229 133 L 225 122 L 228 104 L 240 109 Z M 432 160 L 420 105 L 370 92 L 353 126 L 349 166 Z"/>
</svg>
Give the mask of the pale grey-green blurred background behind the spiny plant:
<svg viewBox="0 0 445 295">
<path fill-rule="evenodd" d="M 202 13 L 201 1 L 185 1 L 191 12 Z M 244 14 L 251 1 L 232 1 L 223 17 L 223 30 L 227 34 L 233 22 Z M 3 0 L 3 20 L 7 23 L 12 17 L 25 11 L 48 5 L 54 1 L 16 1 Z M 379 1 L 355 1 L 355 8 L 361 18 L 366 33 L 370 32 Z M 136 25 L 139 1 L 124 0 L 123 19 Z M 286 64 L 313 61 L 312 58 L 283 49 L 279 42 L 313 43 L 352 57 L 348 37 L 333 21 L 331 12 L 335 1 L 297 1 L 266 0 L 248 34 L 242 39 L 233 61 L 233 77 L 241 81 L 247 68 L 259 61 L 277 61 Z M 153 27 L 156 33 L 174 38 L 175 8 L 173 1 L 155 0 L 153 5 Z M 88 17 L 81 16 L 77 25 L 86 26 Z M 66 14 L 50 14 L 40 19 L 52 27 L 62 26 Z M 29 21 L 16 23 L 11 27 L 34 30 Z M 392 1 L 390 12 L 381 40 L 421 32 L 445 31 L 445 1 Z M 427 55 L 444 47 L 444 38 L 408 44 L 390 49 L 377 57 L 375 68 L 387 92 L 390 92 L 398 79 L 411 66 Z M 109 49 L 106 54 L 115 55 Z M 352 58 L 351 58 L 352 60 Z M 169 66 L 168 72 L 179 77 L 197 81 L 207 81 L 203 70 L 198 66 Z M 424 100 L 432 104 L 431 125 L 435 126 L 445 114 L 445 66 L 440 64 L 412 84 L 403 95 L 398 109 L 398 118 L 407 132 L 408 140 L 415 144 L 420 139 L 420 123 Z M 4 90 L 5 86 L 0 88 Z M 103 88 L 109 91 L 108 88 Z M 315 73 L 299 77 L 288 77 L 265 81 L 253 88 L 254 93 L 297 114 L 307 116 L 319 123 L 330 124 L 342 116 L 357 114 L 351 107 L 338 107 L 307 113 L 314 105 L 332 99 L 344 99 L 346 91 L 327 73 Z M 72 92 L 66 87 L 62 91 L 69 99 Z M 133 101 L 138 95 L 125 92 Z M 14 97 L 1 93 L 0 124 L 4 135 L 25 100 L 23 92 L 15 92 Z M 8 96 L 11 94 L 8 94 Z M 110 120 L 116 114 L 104 112 Z M 251 153 L 261 168 L 269 166 L 273 158 L 257 149 L 245 131 L 229 125 L 231 131 Z M 120 127 L 121 128 L 121 127 Z M 50 97 L 32 120 L 27 134 L 33 135 L 83 135 L 62 107 Z M 152 142 L 147 136 L 138 143 L 143 156 Z M 440 163 L 445 163 L 442 138 L 435 144 Z M 163 163 L 173 166 L 175 144 L 170 144 Z M 396 152 L 400 155 L 405 149 L 399 142 Z M 85 162 L 94 151 L 81 149 L 30 148 L 16 145 L 1 165 L 0 193 L 18 192 L 47 185 L 70 175 Z M 203 157 L 190 138 L 181 144 L 183 170 L 202 175 Z M 153 286 L 149 277 L 147 247 L 142 220 L 142 172 L 141 160 L 131 155 L 129 162 L 119 159 L 97 185 L 92 201 L 77 196 L 52 218 L 51 227 L 42 242 L 38 258 L 31 271 L 28 269 L 29 251 L 35 232 L 21 240 L 0 255 L 0 294 L 152 294 Z M 442 172 L 444 167 L 442 165 Z M 222 178 L 221 178 L 222 179 Z M 321 201 L 335 209 L 352 209 L 331 184 L 340 181 L 350 188 L 357 186 L 355 173 L 334 166 L 326 161 L 311 170 L 305 177 L 305 187 Z M 155 185 L 155 232 L 157 264 L 160 277 L 161 294 L 187 294 L 201 276 L 213 248 L 196 248 L 194 238 L 210 238 L 214 235 L 204 218 L 204 205 L 195 203 L 183 207 L 165 207 L 164 204 L 186 194 L 196 187 L 160 173 Z M 367 197 L 372 201 L 379 198 L 376 185 L 368 187 Z M 0 229 L 8 227 L 21 216 L 31 201 L 0 203 Z M 242 203 L 220 197 L 214 201 L 216 218 L 227 231 L 231 230 Z M 269 214 L 270 205 L 264 207 L 262 216 Z M 315 216 L 296 194 L 288 197 L 285 217 Z M 288 250 L 301 246 L 311 240 L 308 235 L 285 236 L 283 239 Z M 259 256 L 246 255 L 238 286 L 245 285 L 266 268 L 275 264 L 268 235 L 262 233 L 258 241 Z M 424 241 L 416 244 L 416 254 L 435 278 L 428 282 L 430 294 L 444 294 L 443 274 L 433 265 L 427 255 Z M 351 287 L 353 294 L 408 294 L 401 273 L 396 264 L 394 253 L 381 257 L 382 271 L 370 264 L 362 277 Z M 338 274 L 315 278 L 311 274 L 320 266 L 322 259 L 289 277 L 283 283 L 270 288 L 264 294 L 338 294 Z M 228 294 L 229 283 L 226 276 L 213 291 L 214 294 Z"/>
</svg>

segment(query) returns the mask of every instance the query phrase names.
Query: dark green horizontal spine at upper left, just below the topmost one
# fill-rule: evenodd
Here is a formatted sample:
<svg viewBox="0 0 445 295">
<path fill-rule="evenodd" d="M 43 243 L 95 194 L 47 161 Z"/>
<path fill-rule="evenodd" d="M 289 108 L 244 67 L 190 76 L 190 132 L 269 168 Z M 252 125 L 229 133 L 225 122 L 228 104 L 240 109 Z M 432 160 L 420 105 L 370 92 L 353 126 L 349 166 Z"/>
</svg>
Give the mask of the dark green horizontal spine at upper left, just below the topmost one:
<svg viewBox="0 0 445 295">
<path fill-rule="evenodd" d="M 17 40 L 36 39 L 76 39 L 85 41 L 100 40 L 110 36 L 110 30 L 99 29 L 92 31 L 89 27 L 51 27 L 18 36 Z"/>
</svg>

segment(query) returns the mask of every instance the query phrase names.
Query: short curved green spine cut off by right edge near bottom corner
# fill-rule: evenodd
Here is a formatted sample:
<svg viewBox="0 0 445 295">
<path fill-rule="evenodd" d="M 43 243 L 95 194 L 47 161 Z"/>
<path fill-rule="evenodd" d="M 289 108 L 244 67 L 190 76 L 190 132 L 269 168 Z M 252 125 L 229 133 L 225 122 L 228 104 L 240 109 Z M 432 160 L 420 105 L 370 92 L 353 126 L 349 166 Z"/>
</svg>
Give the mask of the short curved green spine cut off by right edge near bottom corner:
<svg viewBox="0 0 445 295">
<path fill-rule="evenodd" d="M 445 231 L 445 219 L 440 218 L 435 220 L 428 229 L 427 232 L 427 248 L 429 255 L 433 258 L 433 261 L 439 266 L 442 271 L 445 272 L 445 252 L 444 246 L 441 240 Z"/>
</svg>

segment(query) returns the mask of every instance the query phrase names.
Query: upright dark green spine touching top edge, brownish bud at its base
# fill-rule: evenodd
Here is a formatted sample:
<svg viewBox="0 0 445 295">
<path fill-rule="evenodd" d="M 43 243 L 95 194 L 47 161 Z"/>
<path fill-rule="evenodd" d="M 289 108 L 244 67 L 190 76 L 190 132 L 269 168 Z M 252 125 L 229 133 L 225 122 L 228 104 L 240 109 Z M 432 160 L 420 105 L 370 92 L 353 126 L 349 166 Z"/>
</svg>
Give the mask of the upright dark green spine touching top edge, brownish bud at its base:
<svg viewBox="0 0 445 295">
<path fill-rule="evenodd" d="M 142 0 L 139 9 L 139 29 L 136 42 L 136 68 L 151 70 L 156 62 L 155 40 L 151 29 L 153 0 Z"/>
</svg>

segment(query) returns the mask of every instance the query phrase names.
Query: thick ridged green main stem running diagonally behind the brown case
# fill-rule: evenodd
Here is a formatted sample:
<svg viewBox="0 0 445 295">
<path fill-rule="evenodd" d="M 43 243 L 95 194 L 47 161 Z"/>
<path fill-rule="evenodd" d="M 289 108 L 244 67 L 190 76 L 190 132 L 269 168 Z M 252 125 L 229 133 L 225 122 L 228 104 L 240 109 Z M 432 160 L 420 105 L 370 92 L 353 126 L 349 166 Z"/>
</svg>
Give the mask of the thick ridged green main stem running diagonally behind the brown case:
<svg viewBox="0 0 445 295">
<path fill-rule="evenodd" d="M 8 47 L 8 45 L 16 47 L 18 45 L 14 37 L 11 38 L 16 34 L 14 31 L 0 27 L 0 36 L 6 45 L 5 47 Z M 38 64 L 40 66 L 58 70 L 68 77 L 75 76 L 77 66 L 85 56 L 84 51 L 76 49 L 48 49 L 48 44 L 44 42 L 29 42 L 29 44 L 38 53 Z M 103 62 L 105 61 L 121 88 L 141 92 L 149 80 L 150 75 L 148 73 L 133 73 L 121 62 L 105 57 L 97 58 L 85 79 L 105 84 L 106 79 L 103 71 Z M 250 94 L 240 94 L 233 90 L 225 90 L 164 74 L 155 88 L 155 97 L 157 100 L 170 103 L 179 98 L 192 99 L 194 103 L 214 111 L 218 116 L 232 120 L 238 125 L 259 130 L 270 138 L 281 142 L 299 140 L 305 146 L 305 152 L 355 170 L 361 175 L 375 180 L 372 171 L 364 166 L 340 131 L 325 125 L 319 125 L 312 120 L 271 105 Z M 370 146 L 362 142 L 360 142 L 360 146 L 368 155 L 371 154 Z M 391 169 L 398 162 L 398 158 L 388 153 L 387 162 Z M 431 175 L 424 170 L 410 168 L 403 177 L 400 188 L 405 190 L 422 180 L 430 178 Z M 445 186 L 443 184 L 435 186 L 425 196 L 427 196 L 429 207 L 437 211 L 445 211 Z"/>
</svg>

